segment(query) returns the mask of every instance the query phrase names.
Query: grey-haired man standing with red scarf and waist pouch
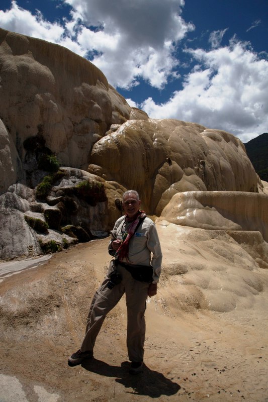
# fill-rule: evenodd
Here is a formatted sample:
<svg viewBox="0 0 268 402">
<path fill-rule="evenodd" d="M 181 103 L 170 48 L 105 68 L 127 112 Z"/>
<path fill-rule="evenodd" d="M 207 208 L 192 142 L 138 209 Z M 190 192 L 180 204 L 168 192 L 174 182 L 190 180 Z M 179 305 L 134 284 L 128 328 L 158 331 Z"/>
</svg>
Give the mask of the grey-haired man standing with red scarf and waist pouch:
<svg viewBox="0 0 268 402">
<path fill-rule="evenodd" d="M 140 210 L 140 205 L 137 191 L 129 190 L 123 194 L 125 216 L 116 221 L 108 246 L 115 259 L 92 300 L 81 347 L 68 359 L 71 366 L 93 357 L 104 319 L 125 293 L 129 372 L 137 374 L 143 369 L 146 299 L 157 292 L 162 252 L 155 225 Z"/>
</svg>

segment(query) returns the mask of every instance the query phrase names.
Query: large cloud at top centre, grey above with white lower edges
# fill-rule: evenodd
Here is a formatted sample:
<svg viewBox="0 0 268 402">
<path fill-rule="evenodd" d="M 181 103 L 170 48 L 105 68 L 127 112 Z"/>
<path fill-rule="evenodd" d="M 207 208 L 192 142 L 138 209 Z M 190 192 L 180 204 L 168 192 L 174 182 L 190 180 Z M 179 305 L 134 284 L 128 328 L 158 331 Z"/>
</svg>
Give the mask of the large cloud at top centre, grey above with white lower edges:
<svg viewBox="0 0 268 402">
<path fill-rule="evenodd" d="M 184 0 L 65 0 L 87 26 L 77 41 L 94 50 L 93 63 L 115 87 L 130 88 L 140 77 L 163 87 L 176 65 L 174 44 L 193 30 L 180 16 Z"/>
</svg>

